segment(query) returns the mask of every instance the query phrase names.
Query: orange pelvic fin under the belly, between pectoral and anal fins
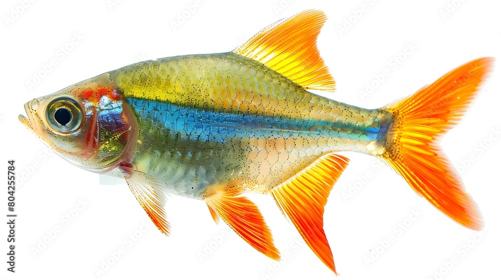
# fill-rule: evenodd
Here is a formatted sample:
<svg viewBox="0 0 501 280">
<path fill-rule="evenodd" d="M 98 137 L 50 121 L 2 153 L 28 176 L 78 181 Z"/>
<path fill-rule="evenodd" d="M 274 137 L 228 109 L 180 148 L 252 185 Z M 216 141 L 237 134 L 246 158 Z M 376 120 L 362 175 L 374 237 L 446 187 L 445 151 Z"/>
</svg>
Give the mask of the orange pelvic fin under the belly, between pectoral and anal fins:
<svg viewBox="0 0 501 280">
<path fill-rule="evenodd" d="M 272 232 L 254 202 L 238 191 L 219 189 L 204 198 L 243 240 L 272 259 L 279 260 L 280 252 L 273 243 Z"/>
</svg>

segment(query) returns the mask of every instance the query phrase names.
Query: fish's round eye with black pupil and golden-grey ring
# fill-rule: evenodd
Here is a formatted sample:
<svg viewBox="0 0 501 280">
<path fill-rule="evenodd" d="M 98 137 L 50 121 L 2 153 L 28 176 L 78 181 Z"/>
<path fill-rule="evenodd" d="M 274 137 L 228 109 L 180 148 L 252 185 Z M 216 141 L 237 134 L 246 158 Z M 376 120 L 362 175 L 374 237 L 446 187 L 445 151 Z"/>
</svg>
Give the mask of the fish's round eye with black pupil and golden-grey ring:
<svg viewBox="0 0 501 280">
<path fill-rule="evenodd" d="M 56 98 L 47 106 L 46 117 L 49 125 L 61 133 L 71 133 L 82 123 L 82 108 L 78 102 L 66 98 Z"/>
</svg>

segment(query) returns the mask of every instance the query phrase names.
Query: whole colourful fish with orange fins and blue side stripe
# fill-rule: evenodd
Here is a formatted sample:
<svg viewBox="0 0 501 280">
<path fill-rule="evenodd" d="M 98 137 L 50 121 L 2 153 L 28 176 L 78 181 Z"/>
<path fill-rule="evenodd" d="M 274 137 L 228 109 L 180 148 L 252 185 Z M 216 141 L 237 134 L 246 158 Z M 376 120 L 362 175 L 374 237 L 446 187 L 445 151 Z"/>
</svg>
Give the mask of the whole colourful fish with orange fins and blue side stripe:
<svg viewBox="0 0 501 280">
<path fill-rule="evenodd" d="M 247 193 L 270 194 L 336 275 L 324 207 L 349 164 L 375 156 L 458 224 L 480 230 L 477 204 L 439 142 L 480 92 L 493 57 L 469 61 L 384 107 L 315 92 L 336 82 L 317 47 L 326 14 L 306 10 L 232 51 L 137 62 L 35 98 L 20 121 L 70 163 L 124 178 L 165 235 L 171 194 L 205 202 L 264 255 L 280 259 Z"/>
</svg>

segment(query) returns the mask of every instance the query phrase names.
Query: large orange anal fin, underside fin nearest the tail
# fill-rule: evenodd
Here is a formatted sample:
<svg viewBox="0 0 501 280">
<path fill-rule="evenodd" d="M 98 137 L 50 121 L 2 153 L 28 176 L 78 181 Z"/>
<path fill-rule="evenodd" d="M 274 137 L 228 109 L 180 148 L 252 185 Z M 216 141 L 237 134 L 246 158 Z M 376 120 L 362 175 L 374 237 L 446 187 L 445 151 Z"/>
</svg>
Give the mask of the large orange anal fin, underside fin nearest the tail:
<svg viewBox="0 0 501 280">
<path fill-rule="evenodd" d="M 334 273 L 334 258 L 324 232 L 324 206 L 348 161 L 339 154 L 324 155 L 272 189 L 273 198 L 284 215 L 291 219 L 308 246 Z"/>
</svg>

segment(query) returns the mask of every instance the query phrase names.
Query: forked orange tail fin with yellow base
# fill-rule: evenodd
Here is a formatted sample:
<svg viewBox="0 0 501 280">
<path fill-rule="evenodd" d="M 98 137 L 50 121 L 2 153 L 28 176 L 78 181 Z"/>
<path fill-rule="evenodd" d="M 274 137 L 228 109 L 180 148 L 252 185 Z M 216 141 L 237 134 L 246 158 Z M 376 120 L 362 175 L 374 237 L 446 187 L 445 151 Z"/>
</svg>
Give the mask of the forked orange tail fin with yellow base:
<svg viewBox="0 0 501 280">
<path fill-rule="evenodd" d="M 382 157 L 433 206 L 474 230 L 483 227 L 480 211 L 438 142 L 466 112 L 493 62 L 492 57 L 470 61 L 385 107 L 392 124 Z"/>
</svg>

